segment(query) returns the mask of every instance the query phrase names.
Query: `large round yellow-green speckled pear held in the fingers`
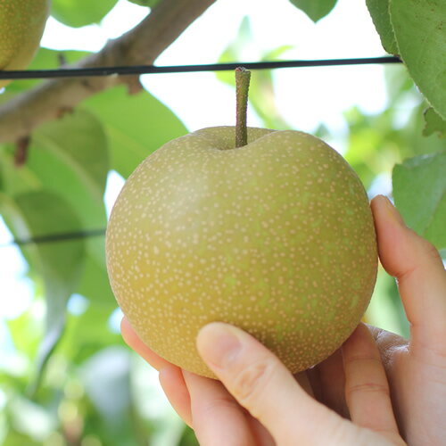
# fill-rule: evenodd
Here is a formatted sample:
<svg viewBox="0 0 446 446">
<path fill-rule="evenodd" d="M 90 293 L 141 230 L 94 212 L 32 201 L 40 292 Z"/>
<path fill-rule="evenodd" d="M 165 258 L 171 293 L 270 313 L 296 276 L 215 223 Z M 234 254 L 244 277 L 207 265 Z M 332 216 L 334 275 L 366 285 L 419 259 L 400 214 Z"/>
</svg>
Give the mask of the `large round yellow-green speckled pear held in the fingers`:
<svg viewBox="0 0 446 446">
<path fill-rule="evenodd" d="M 164 359 L 215 377 L 195 349 L 211 321 L 239 326 L 293 373 L 359 324 L 376 281 L 368 197 L 315 136 L 204 128 L 150 154 L 128 178 L 106 235 L 111 287 Z"/>
</svg>

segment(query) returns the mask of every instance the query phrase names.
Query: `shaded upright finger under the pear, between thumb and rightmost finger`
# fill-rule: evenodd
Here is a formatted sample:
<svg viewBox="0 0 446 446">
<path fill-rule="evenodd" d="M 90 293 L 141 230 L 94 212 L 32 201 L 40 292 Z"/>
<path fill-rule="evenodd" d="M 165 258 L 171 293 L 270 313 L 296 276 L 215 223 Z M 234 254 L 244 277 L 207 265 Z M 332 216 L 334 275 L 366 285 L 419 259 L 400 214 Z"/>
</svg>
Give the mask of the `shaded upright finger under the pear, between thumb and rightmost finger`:
<svg viewBox="0 0 446 446">
<path fill-rule="evenodd" d="M 374 431 L 398 434 L 381 357 L 364 324 L 343 343 L 343 367 L 351 421 Z"/>
</svg>

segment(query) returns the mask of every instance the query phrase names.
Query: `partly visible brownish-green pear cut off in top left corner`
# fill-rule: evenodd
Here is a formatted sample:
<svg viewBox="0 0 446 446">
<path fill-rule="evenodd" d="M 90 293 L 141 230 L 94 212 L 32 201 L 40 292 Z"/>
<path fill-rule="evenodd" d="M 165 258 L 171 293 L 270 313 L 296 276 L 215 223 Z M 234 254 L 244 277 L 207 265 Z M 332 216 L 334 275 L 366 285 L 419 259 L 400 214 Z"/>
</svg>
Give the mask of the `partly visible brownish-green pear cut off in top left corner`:
<svg viewBox="0 0 446 446">
<path fill-rule="evenodd" d="M 28 67 L 44 33 L 50 0 L 0 0 L 0 70 Z M 0 80 L 0 88 L 10 80 Z"/>
</svg>

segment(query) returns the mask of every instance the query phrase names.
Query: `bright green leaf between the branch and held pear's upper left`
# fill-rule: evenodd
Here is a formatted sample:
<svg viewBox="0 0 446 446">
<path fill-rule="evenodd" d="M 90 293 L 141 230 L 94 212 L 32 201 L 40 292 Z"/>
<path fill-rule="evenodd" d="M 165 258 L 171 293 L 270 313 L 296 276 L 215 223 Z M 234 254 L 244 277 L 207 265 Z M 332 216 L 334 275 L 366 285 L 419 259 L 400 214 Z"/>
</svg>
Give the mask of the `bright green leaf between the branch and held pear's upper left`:
<svg viewBox="0 0 446 446">
<path fill-rule="evenodd" d="M 125 87 L 115 87 L 83 105 L 102 120 L 110 144 L 111 169 L 124 178 L 161 145 L 187 133 L 172 111 L 146 91 L 128 95 Z"/>
</svg>

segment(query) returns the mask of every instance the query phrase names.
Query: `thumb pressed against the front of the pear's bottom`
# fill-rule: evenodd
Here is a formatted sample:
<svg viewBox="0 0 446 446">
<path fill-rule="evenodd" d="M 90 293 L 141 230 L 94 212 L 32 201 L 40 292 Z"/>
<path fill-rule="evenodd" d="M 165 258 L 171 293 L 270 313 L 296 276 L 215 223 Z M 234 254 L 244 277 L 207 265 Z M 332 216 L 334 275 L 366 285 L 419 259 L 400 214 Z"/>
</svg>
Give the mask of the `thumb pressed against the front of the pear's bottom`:
<svg viewBox="0 0 446 446">
<path fill-rule="evenodd" d="M 197 348 L 235 400 L 278 444 L 289 444 L 291 438 L 301 444 L 329 441 L 327 433 L 342 427 L 341 417 L 313 400 L 275 355 L 235 326 L 204 326 Z"/>
</svg>

